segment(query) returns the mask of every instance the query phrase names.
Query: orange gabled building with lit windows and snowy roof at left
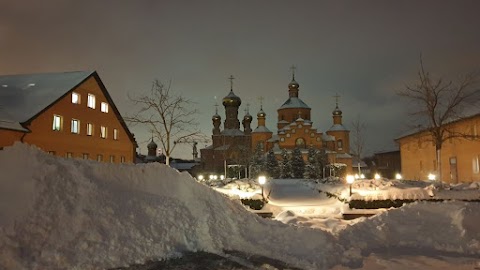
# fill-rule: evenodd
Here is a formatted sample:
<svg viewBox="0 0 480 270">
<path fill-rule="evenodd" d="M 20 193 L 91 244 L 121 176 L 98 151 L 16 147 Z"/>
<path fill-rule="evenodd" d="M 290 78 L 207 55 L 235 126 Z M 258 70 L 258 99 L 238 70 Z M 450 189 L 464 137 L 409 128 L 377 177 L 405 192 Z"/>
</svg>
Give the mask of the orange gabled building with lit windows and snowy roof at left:
<svg viewBox="0 0 480 270">
<path fill-rule="evenodd" d="M 0 76 L 0 147 L 132 163 L 136 142 L 96 72 Z"/>
</svg>

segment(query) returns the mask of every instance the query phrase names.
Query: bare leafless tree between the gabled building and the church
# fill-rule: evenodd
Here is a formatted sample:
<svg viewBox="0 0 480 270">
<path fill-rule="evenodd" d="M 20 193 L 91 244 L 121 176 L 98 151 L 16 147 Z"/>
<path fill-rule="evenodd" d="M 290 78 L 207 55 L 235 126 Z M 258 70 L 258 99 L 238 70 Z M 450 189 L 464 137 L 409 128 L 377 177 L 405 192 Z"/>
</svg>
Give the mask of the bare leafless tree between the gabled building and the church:
<svg viewBox="0 0 480 270">
<path fill-rule="evenodd" d="M 148 127 L 160 140 L 167 165 L 170 164 L 170 156 L 175 150 L 175 141 L 202 137 L 196 122 L 198 110 L 193 108 L 194 102 L 182 95 L 174 95 L 170 90 L 171 82 L 166 86 L 155 80 L 148 94 L 128 95 L 138 111 L 125 117 L 125 120 L 133 125 Z"/>
</svg>

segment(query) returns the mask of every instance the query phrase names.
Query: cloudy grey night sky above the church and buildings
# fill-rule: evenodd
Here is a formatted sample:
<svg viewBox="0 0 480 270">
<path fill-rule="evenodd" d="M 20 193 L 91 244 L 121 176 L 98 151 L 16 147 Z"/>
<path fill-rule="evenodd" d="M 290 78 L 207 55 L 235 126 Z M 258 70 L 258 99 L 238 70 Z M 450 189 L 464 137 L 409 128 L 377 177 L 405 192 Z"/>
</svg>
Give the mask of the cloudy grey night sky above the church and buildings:
<svg viewBox="0 0 480 270">
<path fill-rule="evenodd" d="M 345 126 L 357 115 L 366 123 L 371 154 L 394 149 L 407 130 L 407 102 L 395 90 L 415 80 L 420 54 L 438 76 L 479 70 L 479 11 L 480 1 L 438 0 L 0 0 L 0 73 L 96 70 L 124 115 L 127 93 L 171 80 L 173 91 L 197 102 L 210 136 L 215 97 L 221 103 L 228 94 L 231 74 L 239 118 L 250 103 L 255 128 L 263 96 L 276 132 L 295 65 L 314 127 L 332 125 L 338 93 Z M 131 130 L 145 154 L 149 132 Z M 174 156 L 190 153 L 184 146 Z"/>
</svg>

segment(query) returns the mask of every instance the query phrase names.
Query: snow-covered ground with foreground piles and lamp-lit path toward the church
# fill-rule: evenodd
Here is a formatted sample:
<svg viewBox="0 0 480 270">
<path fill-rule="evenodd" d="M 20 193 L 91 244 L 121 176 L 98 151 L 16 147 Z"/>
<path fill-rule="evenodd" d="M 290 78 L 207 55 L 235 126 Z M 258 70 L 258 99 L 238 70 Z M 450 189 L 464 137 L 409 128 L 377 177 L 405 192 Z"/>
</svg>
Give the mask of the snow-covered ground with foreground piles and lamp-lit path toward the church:
<svg viewBox="0 0 480 270">
<path fill-rule="evenodd" d="M 345 205 L 316 189 L 345 195 L 346 186 L 295 181 L 265 187 L 277 214 L 269 220 L 161 164 L 63 159 L 16 144 L 0 151 L 0 269 L 105 269 L 225 250 L 302 269 L 480 268 L 479 203 L 412 203 L 344 221 Z M 255 183 L 235 185 L 258 192 Z M 374 187 L 408 196 L 382 188 Z M 480 198 L 478 185 L 462 188 L 455 196 Z"/>
</svg>

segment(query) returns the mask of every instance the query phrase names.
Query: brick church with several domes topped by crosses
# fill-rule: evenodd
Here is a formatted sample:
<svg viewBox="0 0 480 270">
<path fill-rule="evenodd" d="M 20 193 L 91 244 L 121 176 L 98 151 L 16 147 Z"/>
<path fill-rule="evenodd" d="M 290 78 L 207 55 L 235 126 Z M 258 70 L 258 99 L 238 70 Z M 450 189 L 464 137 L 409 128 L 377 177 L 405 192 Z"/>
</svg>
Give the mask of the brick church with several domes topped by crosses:
<svg viewBox="0 0 480 270">
<path fill-rule="evenodd" d="M 248 174 L 249 162 L 256 149 L 262 149 L 264 153 L 272 149 L 280 160 L 282 149 L 291 152 L 299 148 L 306 160 L 309 147 L 324 149 L 330 164 L 345 164 L 347 172 L 352 171 L 350 131 L 342 124 L 338 96 L 332 112 L 332 126 L 323 133 L 313 127 L 311 108 L 300 99 L 300 85 L 295 81 L 295 72 L 292 72 L 292 80 L 288 84 L 288 98 L 277 109 L 277 132 L 274 134 L 266 126 L 267 115 L 262 105 L 257 113 L 257 127 L 252 130 L 253 117 L 247 109 L 242 120 L 242 130 L 238 119 L 242 100 L 233 92 L 233 76 L 230 80 L 230 92 L 222 100 L 225 108 L 223 129 L 217 106 L 212 117 L 212 144 L 200 150 L 205 172 L 230 176 L 227 170 L 230 172 L 231 168 L 234 168 L 239 177 L 242 177 Z"/>
</svg>

